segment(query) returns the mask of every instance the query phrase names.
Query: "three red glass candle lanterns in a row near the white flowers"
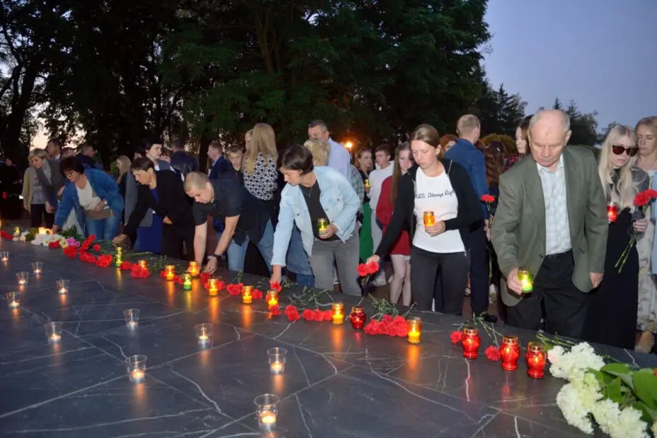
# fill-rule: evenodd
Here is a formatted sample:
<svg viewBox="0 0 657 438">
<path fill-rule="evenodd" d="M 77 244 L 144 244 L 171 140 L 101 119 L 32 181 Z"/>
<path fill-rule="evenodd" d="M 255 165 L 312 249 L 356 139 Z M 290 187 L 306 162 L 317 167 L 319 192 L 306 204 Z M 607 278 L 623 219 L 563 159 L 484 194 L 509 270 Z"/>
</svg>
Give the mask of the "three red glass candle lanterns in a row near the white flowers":
<svg viewBox="0 0 657 438">
<path fill-rule="evenodd" d="M 465 327 L 463 329 L 461 345 L 463 346 L 463 357 L 470 360 L 477 359 L 479 347 L 482 345 L 482 340 L 479 338 L 479 331 L 475 327 Z M 518 369 L 518 358 L 520 355 L 521 350 L 520 344 L 518 343 L 518 336 L 504 336 L 499 346 L 502 369 L 516 371 Z M 525 360 L 527 362 L 528 376 L 533 379 L 542 379 L 545 374 L 545 363 L 547 360 L 545 346 L 537 341 L 528 343 Z"/>
</svg>

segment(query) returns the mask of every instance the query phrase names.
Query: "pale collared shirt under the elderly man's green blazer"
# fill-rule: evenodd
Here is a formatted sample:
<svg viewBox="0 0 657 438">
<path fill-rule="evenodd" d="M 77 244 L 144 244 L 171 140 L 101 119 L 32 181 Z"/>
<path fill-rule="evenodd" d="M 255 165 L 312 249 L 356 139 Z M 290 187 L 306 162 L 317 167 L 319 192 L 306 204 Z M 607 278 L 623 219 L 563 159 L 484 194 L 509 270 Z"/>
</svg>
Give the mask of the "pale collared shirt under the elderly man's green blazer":
<svg viewBox="0 0 657 438">
<path fill-rule="evenodd" d="M 545 201 L 545 255 L 561 254 L 572 248 L 564 155 L 559 157 L 557 170 L 536 163 Z"/>
</svg>

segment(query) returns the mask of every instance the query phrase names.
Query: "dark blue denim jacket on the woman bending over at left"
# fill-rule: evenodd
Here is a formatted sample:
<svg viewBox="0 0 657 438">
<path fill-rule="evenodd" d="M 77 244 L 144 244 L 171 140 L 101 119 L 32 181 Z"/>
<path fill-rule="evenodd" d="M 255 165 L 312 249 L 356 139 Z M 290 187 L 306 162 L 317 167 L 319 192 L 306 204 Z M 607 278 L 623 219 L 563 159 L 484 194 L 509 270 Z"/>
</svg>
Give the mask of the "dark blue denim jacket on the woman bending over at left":
<svg viewBox="0 0 657 438">
<path fill-rule="evenodd" d="M 84 167 L 84 176 L 87 177 L 96 196 L 107 201 L 107 206 L 112 209 L 112 212 L 115 215 L 120 215 L 123 211 L 123 198 L 121 197 L 119 186 L 117 186 L 114 179 L 102 170 L 95 170 L 86 166 Z M 57 213 L 55 213 L 54 216 L 54 224 L 62 227 L 71 212 L 71 208 L 74 209 L 80 226 L 84 227 L 84 214 L 82 212 L 82 207 L 80 206 L 78 191 L 75 187 L 75 183 L 66 179 L 66 182 L 64 182 L 62 201 L 59 202 L 59 208 L 57 208 Z"/>
</svg>

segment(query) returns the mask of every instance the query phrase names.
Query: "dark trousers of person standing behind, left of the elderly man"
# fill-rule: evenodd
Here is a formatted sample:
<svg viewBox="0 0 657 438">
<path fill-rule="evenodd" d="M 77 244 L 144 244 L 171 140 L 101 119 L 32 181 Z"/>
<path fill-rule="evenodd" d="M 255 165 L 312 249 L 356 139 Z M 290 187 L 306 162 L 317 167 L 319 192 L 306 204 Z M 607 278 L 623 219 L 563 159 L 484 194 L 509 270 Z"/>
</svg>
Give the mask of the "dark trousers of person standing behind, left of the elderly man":
<svg viewBox="0 0 657 438">
<path fill-rule="evenodd" d="M 488 311 L 488 251 L 484 220 L 470 230 L 470 303 L 475 316 Z"/>
</svg>

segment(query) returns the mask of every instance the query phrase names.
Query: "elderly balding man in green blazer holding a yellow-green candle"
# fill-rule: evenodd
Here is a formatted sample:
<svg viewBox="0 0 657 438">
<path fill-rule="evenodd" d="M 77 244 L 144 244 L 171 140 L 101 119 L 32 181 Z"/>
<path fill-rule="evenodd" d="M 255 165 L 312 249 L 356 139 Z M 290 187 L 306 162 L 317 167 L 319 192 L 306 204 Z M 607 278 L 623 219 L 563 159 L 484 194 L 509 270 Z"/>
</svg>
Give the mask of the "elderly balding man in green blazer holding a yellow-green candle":
<svg viewBox="0 0 657 438">
<path fill-rule="evenodd" d="M 588 294 L 603 278 L 607 214 L 593 153 L 566 144 L 570 120 L 542 110 L 529 126 L 531 157 L 502 175 L 491 239 L 506 277 L 508 324 L 581 337 Z M 518 268 L 533 274 L 523 292 Z"/>
</svg>

